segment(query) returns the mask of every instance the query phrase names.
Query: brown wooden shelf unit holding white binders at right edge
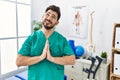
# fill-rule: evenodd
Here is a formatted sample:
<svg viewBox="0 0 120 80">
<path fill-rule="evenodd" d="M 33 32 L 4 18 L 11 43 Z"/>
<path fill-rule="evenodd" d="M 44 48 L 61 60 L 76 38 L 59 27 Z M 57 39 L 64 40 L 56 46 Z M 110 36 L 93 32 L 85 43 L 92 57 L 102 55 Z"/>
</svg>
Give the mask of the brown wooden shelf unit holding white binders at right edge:
<svg viewBox="0 0 120 80">
<path fill-rule="evenodd" d="M 120 23 L 114 25 L 110 80 L 120 80 Z"/>
</svg>

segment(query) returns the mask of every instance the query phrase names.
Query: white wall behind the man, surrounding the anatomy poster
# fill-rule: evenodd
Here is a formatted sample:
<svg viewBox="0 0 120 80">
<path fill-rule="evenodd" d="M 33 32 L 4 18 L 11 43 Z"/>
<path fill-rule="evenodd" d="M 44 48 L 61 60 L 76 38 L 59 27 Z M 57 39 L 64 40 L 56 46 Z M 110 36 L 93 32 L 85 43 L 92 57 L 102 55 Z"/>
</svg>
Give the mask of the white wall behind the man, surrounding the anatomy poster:
<svg viewBox="0 0 120 80">
<path fill-rule="evenodd" d="M 109 53 L 109 58 L 111 55 L 112 47 L 112 35 L 114 23 L 120 22 L 120 0 L 33 0 L 32 1 L 32 20 L 41 20 L 41 16 L 50 4 L 59 5 L 61 8 L 62 16 L 60 19 L 60 24 L 57 26 L 59 32 L 65 35 L 68 39 L 68 32 L 70 31 L 68 26 L 71 26 L 71 17 L 69 8 L 71 5 L 79 5 L 81 3 L 87 3 L 89 6 L 89 14 L 94 10 L 93 16 L 93 42 L 96 46 L 96 54 L 100 54 L 102 51 L 107 51 Z M 88 29 L 90 27 L 90 17 L 88 17 Z M 66 28 L 67 27 L 67 28 Z M 89 35 L 89 30 L 88 33 Z M 88 38 L 72 38 L 76 41 L 76 45 L 85 45 L 89 40 Z"/>
</svg>

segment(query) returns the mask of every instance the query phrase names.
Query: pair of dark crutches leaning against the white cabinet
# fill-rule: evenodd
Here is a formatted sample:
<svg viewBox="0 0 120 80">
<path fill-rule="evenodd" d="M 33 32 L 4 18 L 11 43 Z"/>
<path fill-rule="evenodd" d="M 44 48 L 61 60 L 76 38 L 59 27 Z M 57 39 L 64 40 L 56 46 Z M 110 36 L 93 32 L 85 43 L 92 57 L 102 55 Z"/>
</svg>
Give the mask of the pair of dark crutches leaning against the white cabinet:
<svg viewBox="0 0 120 80">
<path fill-rule="evenodd" d="M 91 73 L 93 73 L 92 80 L 95 80 L 96 72 L 100 67 L 100 64 L 102 62 L 102 58 L 100 58 L 99 56 L 96 56 L 96 57 L 91 57 L 90 60 L 92 62 L 90 68 L 89 69 L 88 68 L 83 68 L 83 71 L 88 73 L 87 80 L 90 80 L 90 74 Z M 95 65 L 96 60 L 98 60 L 98 64 L 96 65 L 96 68 L 93 70 L 93 66 Z"/>
</svg>

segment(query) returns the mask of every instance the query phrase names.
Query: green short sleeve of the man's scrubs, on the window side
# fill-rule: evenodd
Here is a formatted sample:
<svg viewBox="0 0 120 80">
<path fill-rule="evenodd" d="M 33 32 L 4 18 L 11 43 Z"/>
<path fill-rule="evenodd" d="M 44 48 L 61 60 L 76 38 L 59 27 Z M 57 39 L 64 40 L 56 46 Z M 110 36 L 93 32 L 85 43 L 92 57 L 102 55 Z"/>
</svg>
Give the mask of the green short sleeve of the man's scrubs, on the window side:
<svg viewBox="0 0 120 80">
<path fill-rule="evenodd" d="M 22 47 L 18 51 L 18 54 L 21 54 L 23 56 L 29 56 L 30 55 L 31 45 L 32 45 L 32 40 L 33 40 L 34 35 L 35 34 L 33 33 L 32 35 L 27 37 L 27 39 L 22 44 Z"/>
</svg>

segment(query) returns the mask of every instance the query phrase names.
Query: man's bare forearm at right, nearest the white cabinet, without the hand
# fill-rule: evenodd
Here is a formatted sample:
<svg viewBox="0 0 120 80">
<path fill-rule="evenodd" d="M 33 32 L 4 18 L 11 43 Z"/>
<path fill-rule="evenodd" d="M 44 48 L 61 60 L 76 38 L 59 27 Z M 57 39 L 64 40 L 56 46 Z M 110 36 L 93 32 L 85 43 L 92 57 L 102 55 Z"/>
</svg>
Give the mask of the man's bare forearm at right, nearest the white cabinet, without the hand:
<svg viewBox="0 0 120 80">
<path fill-rule="evenodd" d="M 73 65 L 75 64 L 75 56 L 52 57 L 51 62 L 60 65 Z"/>
</svg>

